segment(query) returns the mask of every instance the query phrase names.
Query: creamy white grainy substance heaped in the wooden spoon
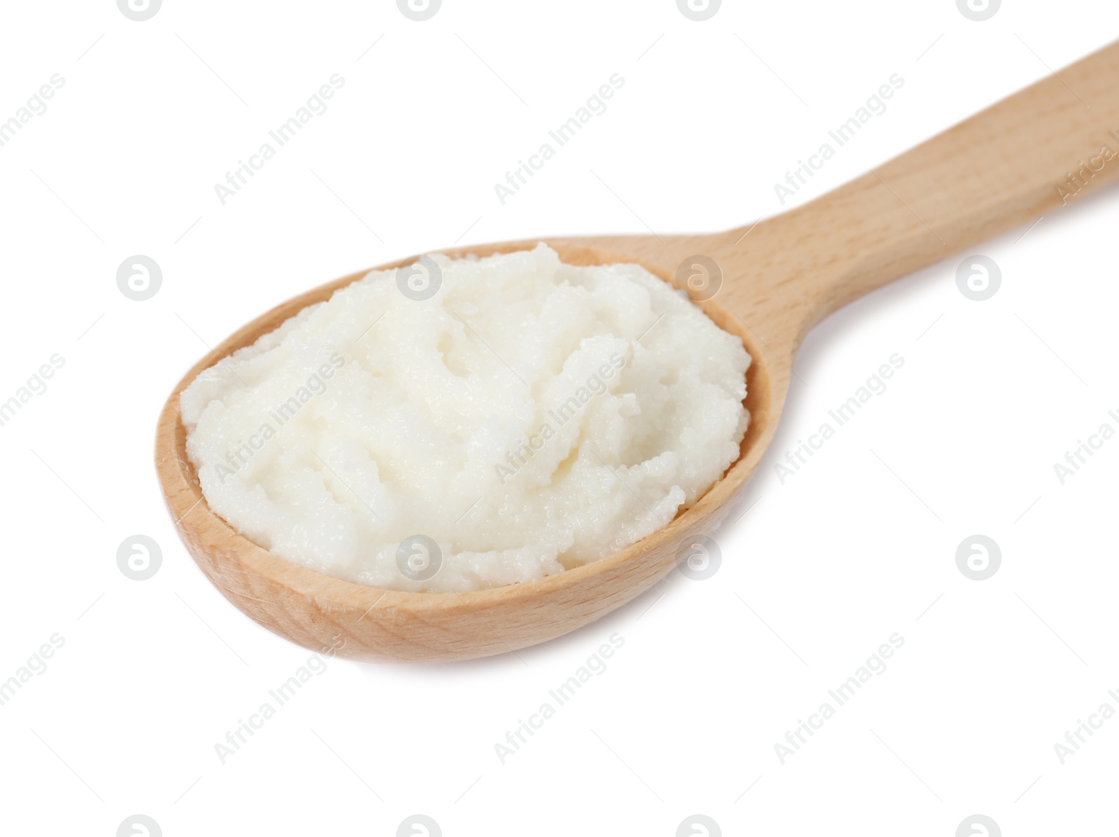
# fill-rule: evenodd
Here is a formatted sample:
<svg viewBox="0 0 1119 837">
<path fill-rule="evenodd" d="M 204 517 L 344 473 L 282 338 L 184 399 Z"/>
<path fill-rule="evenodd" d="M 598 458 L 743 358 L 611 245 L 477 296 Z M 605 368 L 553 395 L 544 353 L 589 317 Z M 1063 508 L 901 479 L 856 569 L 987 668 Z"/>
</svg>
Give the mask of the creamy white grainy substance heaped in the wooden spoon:
<svg viewBox="0 0 1119 837">
<path fill-rule="evenodd" d="M 276 555 L 412 591 L 601 558 L 739 457 L 750 356 L 633 264 L 533 251 L 373 271 L 181 396 L 210 508 Z"/>
</svg>

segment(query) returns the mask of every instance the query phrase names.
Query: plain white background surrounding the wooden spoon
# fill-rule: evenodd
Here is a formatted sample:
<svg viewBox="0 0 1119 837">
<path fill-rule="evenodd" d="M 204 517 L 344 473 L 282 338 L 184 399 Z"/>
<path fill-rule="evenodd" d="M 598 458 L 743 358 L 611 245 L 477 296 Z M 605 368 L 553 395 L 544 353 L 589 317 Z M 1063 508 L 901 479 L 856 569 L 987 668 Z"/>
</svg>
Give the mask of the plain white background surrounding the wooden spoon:
<svg viewBox="0 0 1119 837">
<path fill-rule="evenodd" d="M 0 679 L 65 638 L 0 706 L 4 834 L 110 836 L 137 812 L 168 836 L 394 835 L 415 812 L 448 837 L 667 836 L 697 812 L 725 835 L 1112 821 L 1119 721 L 1064 764 L 1053 745 L 1119 707 L 1119 441 L 1065 485 L 1053 464 L 1119 426 L 1115 191 L 982 245 L 988 301 L 957 290 L 959 254 L 818 327 L 709 581 L 674 572 L 516 656 L 331 660 L 225 764 L 214 745 L 309 652 L 197 570 L 152 440 L 206 345 L 281 300 L 455 242 L 749 224 L 892 74 L 888 110 L 787 207 L 1099 48 L 1113 2 L 1006 0 L 985 22 L 953 0 L 726 0 L 706 22 L 670 0 L 2 15 L 0 120 L 65 78 L 0 148 L 0 399 L 65 358 L 0 427 Z M 214 185 L 335 73 L 329 110 L 223 206 Z M 609 110 L 502 206 L 493 185 L 614 73 Z M 163 272 L 144 302 L 115 282 L 138 253 Z M 782 485 L 778 459 L 894 352 L 888 389 Z M 134 534 L 162 547 L 149 581 L 115 563 Z M 1002 547 L 985 582 L 956 566 L 974 534 Z M 613 632 L 608 670 L 501 764 L 506 731 Z M 895 632 L 888 669 L 782 764 L 786 731 Z"/>
</svg>

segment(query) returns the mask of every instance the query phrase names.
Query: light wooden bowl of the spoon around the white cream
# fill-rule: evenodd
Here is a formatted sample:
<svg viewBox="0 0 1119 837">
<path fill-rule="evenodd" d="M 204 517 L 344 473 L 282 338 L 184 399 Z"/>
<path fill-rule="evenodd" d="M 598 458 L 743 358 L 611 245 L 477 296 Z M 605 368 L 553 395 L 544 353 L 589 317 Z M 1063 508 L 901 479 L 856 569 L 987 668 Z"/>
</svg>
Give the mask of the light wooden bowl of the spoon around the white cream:
<svg viewBox="0 0 1119 837">
<path fill-rule="evenodd" d="M 667 239 L 666 239 L 667 241 Z M 441 251 L 450 257 L 530 250 L 536 241 Z M 567 264 L 637 262 L 670 281 L 653 236 L 546 241 Z M 652 257 L 650 257 L 652 254 Z M 664 253 L 667 256 L 667 252 Z M 669 261 L 671 257 L 669 256 Z M 414 258 L 382 265 L 392 270 Z M 676 265 L 674 265 L 675 269 Z M 207 505 L 187 458 L 179 395 L 203 369 L 255 342 L 301 309 L 329 299 L 368 271 L 344 276 L 284 302 L 231 336 L 176 386 L 157 432 L 157 470 L 168 509 L 191 556 L 215 586 L 265 628 L 319 652 L 377 661 L 441 661 L 485 657 L 554 639 L 593 622 L 664 577 L 700 535 L 709 535 L 761 461 L 777 427 L 780 401 L 761 345 L 733 313 L 699 302 L 736 335 L 754 358 L 746 372 L 751 420 L 739 459 L 695 505 L 666 527 L 605 558 L 533 582 L 464 593 L 410 593 L 333 579 L 294 564 L 237 533 Z"/>
</svg>

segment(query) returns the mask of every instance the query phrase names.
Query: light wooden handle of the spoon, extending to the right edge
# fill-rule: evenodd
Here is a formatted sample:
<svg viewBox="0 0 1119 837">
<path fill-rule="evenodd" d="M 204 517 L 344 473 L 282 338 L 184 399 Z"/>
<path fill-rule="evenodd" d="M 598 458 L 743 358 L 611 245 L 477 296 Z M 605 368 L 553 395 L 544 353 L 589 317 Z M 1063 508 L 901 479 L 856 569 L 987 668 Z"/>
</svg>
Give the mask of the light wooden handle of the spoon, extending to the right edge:
<svg viewBox="0 0 1119 837">
<path fill-rule="evenodd" d="M 852 300 L 1117 178 L 1119 44 L 720 248 L 742 278 L 737 302 L 760 319 L 798 304 L 792 350 Z M 759 278 L 763 293 L 747 286 Z"/>
</svg>

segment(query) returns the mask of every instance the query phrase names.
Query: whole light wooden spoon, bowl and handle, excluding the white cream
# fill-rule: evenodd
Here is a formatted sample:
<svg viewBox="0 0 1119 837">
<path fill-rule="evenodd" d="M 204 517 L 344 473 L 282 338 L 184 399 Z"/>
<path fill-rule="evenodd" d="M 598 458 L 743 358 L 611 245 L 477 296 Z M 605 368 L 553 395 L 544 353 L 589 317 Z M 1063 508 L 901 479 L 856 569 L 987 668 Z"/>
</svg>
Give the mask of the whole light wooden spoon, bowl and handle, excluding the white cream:
<svg viewBox="0 0 1119 837">
<path fill-rule="evenodd" d="M 235 605 L 305 648 L 366 660 L 454 660 L 543 642 L 648 590 L 723 520 L 765 453 L 808 329 L 899 276 L 1032 222 L 1119 177 L 1119 45 L 972 116 L 792 211 L 715 235 L 548 238 L 564 262 L 636 262 L 666 281 L 706 256 L 722 273 L 698 304 L 754 358 L 739 460 L 659 532 L 540 581 L 470 593 L 404 593 L 321 575 L 238 535 L 203 497 L 186 454 L 179 394 L 203 369 L 364 276 L 290 300 L 238 330 L 179 382 L 159 418 L 156 464 L 195 561 Z M 442 251 L 526 250 L 537 239 Z M 392 269 L 414 258 L 382 265 Z M 709 293 L 709 290 L 708 292 Z M 703 295 L 707 295 L 706 293 Z M 693 297 L 695 299 L 695 297 Z"/>
</svg>

